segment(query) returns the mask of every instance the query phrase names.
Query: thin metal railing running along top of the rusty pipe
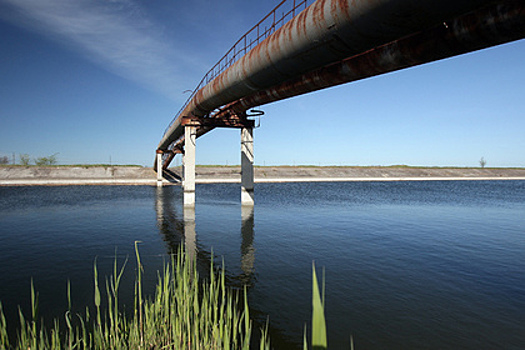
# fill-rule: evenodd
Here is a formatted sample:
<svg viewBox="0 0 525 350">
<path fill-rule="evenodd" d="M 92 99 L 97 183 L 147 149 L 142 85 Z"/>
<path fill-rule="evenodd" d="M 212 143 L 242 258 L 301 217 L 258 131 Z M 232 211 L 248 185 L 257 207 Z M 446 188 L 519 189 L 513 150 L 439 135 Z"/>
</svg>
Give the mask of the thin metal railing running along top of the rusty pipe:
<svg viewBox="0 0 525 350">
<path fill-rule="evenodd" d="M 226 52 L 226 54 L 204 75 L 197 87 L 192 91 L 190 97 L 186 100 L 182 108 L 177 112 L 170 124 L 164 130 L 164 135 L 179 117 L 181 112 L 186 108 L 193 96 L 211 82 L 215 77 L 224 72 L 228 67 L 237 62 L 241 57 L 247 54 L 255 46 L 259 45 L 264 39 L 281 28 L 283 24 L 295 17 L 312 3 L 314 0 L 283 0 L 272 11 L 270 11 L 262 20 L 247 31 L 237 42 Z M 279 14 L 280 13 L 280 14 Z"/>
</svg>

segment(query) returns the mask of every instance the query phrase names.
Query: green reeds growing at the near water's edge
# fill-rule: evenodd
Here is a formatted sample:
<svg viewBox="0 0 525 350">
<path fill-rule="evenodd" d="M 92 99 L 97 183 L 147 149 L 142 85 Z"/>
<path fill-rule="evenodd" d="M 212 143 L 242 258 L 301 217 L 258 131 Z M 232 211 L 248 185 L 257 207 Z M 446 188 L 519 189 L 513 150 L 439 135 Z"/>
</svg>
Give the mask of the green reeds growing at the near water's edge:
<svg viewBox="0 0 525 350">
<path fill-rule="evenodd" d="M 8 324 L 0 303 L 0 350 L 8 349 L 250 349 L 252 320 L 246 289 L 243 295 L 225 285 L 224 266 L 220 273 L 199 278 L 195 260 L 181 250 L 171 263 L 158 272 L 155 295 L 145 298 L 142 265 L 135 242 L 137 273 L 132 315 L 119 309 L 119 285 L 126 263 L 117 266 L 106 278 L 105 293 L 99 286 L 94 266 L 95 310 L 85 308 L 83 315 L 71 312 L 70 285 L 67 286 L 68 310 L 64 319 L 53 320 L 46 328 L 38 315 L 38 294 L 31 283 L 31 316 L 19 308 L 20 324 L 16 338 L 10 339 Z M 126 261 L 127 262 L 127 261 Z M 213 261 L 212 261 L 213 271 Z M 105 294 L 107 307 L 103 309 Z M 319 293 L 313 269 L 312 349 L 326 349 L 323 295 Z M 270 349 L 268 325 L 261 329 L 259 349 Z M 303 348 L 308 349 L 306 329 Z"/>
</svg>

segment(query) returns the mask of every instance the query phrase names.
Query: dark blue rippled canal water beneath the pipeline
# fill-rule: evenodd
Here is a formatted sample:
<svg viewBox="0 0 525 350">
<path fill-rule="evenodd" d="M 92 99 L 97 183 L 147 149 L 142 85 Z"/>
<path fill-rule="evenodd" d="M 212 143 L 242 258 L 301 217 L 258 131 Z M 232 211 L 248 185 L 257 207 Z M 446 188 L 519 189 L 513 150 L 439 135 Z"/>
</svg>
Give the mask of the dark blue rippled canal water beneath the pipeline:
<svg viewBox="0 0 525 350">
<path fill-rule="evenodd" d="M 326 279 L 330 348 L 523 349 L 525 181 L 256 185 L 253 210 L 238 185 L 0 187 L 0 300 L 11 324 L 93 302 L 93 266 L 125 269 L 133 300 L 134 242 L 151 292 L 180 242 L 200 266 L 224 260 L 249 286 L 252 314 L 269 317 L 276 348 L 300 349 L 310 318 L 312 262 Z"/>
</svg>

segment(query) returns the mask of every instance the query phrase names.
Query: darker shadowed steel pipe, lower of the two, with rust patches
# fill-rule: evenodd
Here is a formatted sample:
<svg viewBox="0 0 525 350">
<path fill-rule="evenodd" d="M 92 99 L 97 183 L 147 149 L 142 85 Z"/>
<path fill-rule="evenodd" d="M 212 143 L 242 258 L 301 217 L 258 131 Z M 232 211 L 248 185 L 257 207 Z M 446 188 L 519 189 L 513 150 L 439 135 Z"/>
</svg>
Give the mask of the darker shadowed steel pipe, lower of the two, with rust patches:
<svg viewBox="0 0 525 350">
<path fill-rule="evenodd" d="M 314 69 L 240 98 L 228 109 L 242 113 L 255 106 L 522 38 L 525 38 L 525 6 L 521 0 L 506 1 Z"/>
</svg>

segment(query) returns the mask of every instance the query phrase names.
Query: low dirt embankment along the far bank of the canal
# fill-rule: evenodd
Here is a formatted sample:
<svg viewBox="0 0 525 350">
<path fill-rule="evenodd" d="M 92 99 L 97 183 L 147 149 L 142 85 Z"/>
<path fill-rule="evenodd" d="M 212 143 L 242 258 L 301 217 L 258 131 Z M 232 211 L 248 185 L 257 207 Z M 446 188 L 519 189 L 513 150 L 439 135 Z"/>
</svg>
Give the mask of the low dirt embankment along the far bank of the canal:
<svg viewBox="0 0 525 350">
<path fill-rule="evenodd" d="M 240 167 L 197 167 L 198 183 L 239 182 Z M 181 169 L 164 176 L 179 183 Z M 140 166 L 2 166 L 0 185 L 155 185 L 156 173 Z M 255 167 L 256 182 L 291 181 L 402 181 L 402 180 L 521 179 L 525 168 L 417 168 L 417 167 Z"/>
</svg>

